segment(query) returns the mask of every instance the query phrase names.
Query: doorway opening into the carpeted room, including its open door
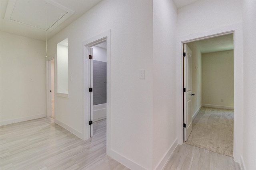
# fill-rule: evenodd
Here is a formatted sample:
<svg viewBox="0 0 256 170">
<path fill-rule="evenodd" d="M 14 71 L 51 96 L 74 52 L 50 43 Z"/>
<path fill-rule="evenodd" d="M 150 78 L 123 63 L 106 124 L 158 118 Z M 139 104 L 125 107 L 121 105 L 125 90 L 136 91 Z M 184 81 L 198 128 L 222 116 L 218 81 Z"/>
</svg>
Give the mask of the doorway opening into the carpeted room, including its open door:
<svg viewBox="0 0 256 170">
<path fill-rule="evenodd" d="M 188 68 L 192 68 L 191 89 L 193 95 L 190 101 L 191 109 L 186 109 L 188 106 L 184 101 L 184 120 L 192 118 L 193 126 L 196 125 L 196 128 L 193 128 L 191 132 L 184 121 L 184 141 L 203 149 L 233 156 L 234 33 L 190 41 L 184 43 L 184 46 L 186 46 L 184 50 L 188 47 L 192 49 L 192 62 Z M 188 56 L 183 56 L 184 80 L 186 80 L 185 61 Z M 184 84 L 184 87 L 186 88 L 186 84 Z M 187 96 L 186 93 L 184 91 L 184 100 Z M 190 115 L 188 115 L 187 110 L 191 111 Z M 206 119 L 206 117 L 208 118 Z M 202 123 L 202 121 L 204 122 Z M 210 124 L 213 126 L 210 127 Z M 198 129 L 200 125 L 202 127 Z M 220 125 L 224 125 L 222 129 Z M 224 134 L 224 131 L 228 128 L 229 130 Z M 207 129 L 209 131 L 202 135 Z M 191 132 L 190 136 L 186 132 Z M 210 133 L 212 135 L 208 136 L 207 134 Z M 200 142 L 198 139 L 200 139 Z M 220 145 L 221 142 L 222 145 Z M 220 147 L 223 148 L 219 149 Z M 227 151 L 223 152 L 223 150 Z"/>
</svg>

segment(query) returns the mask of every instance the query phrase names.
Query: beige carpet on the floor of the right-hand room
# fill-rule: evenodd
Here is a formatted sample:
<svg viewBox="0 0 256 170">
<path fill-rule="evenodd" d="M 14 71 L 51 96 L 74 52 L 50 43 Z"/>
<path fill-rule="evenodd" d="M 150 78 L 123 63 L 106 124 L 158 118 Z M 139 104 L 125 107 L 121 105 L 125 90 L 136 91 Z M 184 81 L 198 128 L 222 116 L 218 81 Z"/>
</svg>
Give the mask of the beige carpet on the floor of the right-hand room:
<svg viewBox="0 0 256 170">
<path fill-rule="evenodd" d="M 234 111 L 202 107 L 184 143 L 233 157 Z"/>
</svg>

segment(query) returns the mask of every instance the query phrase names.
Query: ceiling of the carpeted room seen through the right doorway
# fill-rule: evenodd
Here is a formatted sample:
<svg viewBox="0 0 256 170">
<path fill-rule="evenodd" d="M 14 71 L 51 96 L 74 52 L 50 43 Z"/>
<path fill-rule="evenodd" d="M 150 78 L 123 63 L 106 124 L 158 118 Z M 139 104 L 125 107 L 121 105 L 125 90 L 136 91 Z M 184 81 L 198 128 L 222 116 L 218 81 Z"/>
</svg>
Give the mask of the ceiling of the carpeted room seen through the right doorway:
<svg viewBox="0 0 256 170">
<path fill-rule="evenodd" d="M 213 38 L 204 39 L 200 41 L 194 41 L 191 43 L 196 43 L 196 45 L 198 46 L 198 49 L 202 54 L 234 49 L 233 34 L 222 35 L 219 37 L 213 37 Z M 191 43 L 187 43 L 188 46 Z"/>
</svg>

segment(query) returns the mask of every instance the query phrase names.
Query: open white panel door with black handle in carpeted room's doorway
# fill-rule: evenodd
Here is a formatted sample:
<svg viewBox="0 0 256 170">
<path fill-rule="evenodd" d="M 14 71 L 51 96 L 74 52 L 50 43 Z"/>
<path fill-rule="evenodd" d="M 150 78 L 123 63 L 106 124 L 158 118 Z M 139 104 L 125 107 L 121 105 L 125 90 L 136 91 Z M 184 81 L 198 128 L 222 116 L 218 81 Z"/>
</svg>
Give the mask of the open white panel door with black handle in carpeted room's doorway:
<svg viewBox="0 0 256 170">
<path fill-rule="evenodd" d="M 184 44 L 184 141 L 192 131 L 192 51 Z"/>
</svg>

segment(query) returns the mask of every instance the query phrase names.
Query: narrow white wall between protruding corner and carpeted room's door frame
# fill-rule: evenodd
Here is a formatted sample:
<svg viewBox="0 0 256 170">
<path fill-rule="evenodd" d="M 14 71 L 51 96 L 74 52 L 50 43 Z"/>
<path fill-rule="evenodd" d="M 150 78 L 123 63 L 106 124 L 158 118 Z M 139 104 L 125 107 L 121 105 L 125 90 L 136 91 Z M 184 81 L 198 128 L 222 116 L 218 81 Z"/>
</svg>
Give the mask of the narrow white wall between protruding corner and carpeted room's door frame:
<svg viewBox="0 0 256 170">
<path fill-rule="evenodd" d="M 153 1 L 153 168 L 161 169 L 177 145 L 176 7 Z M 134 53 L 136 54 L 136 53 Z"/>
</svg>

